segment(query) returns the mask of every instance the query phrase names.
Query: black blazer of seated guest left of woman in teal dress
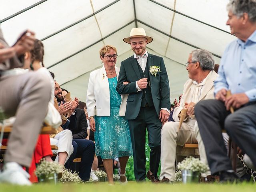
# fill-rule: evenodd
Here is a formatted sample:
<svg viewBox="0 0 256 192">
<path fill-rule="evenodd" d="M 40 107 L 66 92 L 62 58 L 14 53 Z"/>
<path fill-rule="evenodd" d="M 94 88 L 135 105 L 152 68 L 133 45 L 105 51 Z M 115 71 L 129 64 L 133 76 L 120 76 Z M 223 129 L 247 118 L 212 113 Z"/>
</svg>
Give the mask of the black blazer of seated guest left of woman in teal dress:
<svg viewBox="0 0 256 192">
<path fill-rule="evenodd" d="M 87 137 L 87 121 L 84 110 L 75 109 L 76 114 L 69 118 L 70 124 L 64 128 L 72 131 L 73 139 L 85 139 Z"/>
</svg>

